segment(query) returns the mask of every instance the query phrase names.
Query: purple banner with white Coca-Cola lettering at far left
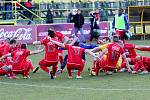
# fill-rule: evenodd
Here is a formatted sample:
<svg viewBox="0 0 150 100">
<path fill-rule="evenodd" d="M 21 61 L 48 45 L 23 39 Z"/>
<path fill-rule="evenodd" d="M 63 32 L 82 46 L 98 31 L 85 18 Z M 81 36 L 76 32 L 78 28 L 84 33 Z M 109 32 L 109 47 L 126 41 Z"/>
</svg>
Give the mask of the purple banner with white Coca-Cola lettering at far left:
<svg viewBox="0 0 150 100">
<path fill-rule="evenodd" d="M 17 37 L 22 43 L 32 43 L 37 39 L 37 26 L 0 26 L 0 39 Z"/>
</svg>

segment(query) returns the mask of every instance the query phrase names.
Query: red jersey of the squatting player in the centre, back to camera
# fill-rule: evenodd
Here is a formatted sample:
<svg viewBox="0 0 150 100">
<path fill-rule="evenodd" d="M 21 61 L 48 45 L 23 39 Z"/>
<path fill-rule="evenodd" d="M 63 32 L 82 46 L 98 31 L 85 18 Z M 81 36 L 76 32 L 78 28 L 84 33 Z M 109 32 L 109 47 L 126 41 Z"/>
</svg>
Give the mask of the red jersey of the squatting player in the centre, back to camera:
<svg viewBox="0 0 150 100">
<path fill-rule="evenodd" d="M 81 47 L 65 45 L 65 48 L 68 50 L 68 63 L 72 64 L 82 64 L 82 54 L 84 53 L 85 49 Z"/>
</svg>

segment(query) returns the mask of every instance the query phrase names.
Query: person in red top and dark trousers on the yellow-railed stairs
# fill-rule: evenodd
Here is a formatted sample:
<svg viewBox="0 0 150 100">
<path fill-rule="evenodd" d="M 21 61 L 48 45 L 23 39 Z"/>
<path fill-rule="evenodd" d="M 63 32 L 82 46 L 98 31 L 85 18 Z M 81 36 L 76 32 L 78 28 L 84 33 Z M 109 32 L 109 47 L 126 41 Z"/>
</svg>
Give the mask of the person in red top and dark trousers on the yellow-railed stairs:
<svg viewBox="0 0 150 100">
<path fill-rule="evenodd" d="M 33 20 L 33 14 L 31 13 L 32 12 L 32 0 L 28 0 L 27 2 L 24 3 L 24 6 L 28 9 L 26 9 L 25 11 L 25 15 L 27 18 L 29 18 L 29 22 L 28 22 L 28 25 L 31 24 L 32 20 Z"/>
</svg>

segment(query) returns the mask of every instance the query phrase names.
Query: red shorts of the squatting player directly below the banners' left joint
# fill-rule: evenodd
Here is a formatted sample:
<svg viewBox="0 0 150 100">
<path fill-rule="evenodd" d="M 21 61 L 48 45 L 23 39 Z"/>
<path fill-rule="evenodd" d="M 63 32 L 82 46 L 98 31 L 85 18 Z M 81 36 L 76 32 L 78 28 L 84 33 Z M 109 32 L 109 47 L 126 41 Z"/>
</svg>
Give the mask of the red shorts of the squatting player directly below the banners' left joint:
<svg viewBox="0 0 150 100">
<path fill-rule="evenodd" d="M 44 67 L 57 66 L 57 64 L 58 64 L 58 61 L 47 61 L 45 59 L 42 59 L 39 62 L 39 65 L 44 66 Z"/>
</svg>

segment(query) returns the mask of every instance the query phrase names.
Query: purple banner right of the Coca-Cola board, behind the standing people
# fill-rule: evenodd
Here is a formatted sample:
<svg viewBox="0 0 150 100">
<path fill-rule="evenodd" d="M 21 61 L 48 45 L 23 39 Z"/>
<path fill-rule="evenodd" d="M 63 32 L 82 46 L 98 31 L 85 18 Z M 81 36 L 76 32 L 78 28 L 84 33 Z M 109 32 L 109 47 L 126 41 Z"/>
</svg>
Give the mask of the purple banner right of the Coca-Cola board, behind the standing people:
<svg viewBox="0 0 150 100">
<path fill-rule="evenodd" d="M 109 28 L 109 22 L 100 22 L 99 23 L 101 36 L 108 36 L 108 28 Z M 60 31 L 61 33 L 65 35 L 70 35 L 74 33 L 74 24 L 72 23 L 64 23 L 64 24 L 46 24 L 46 25 L 38 25 L 37 26 L 37 39 L 41 40 L 47 35 L 48 28 L 52 28 L 55 31 Z M 85 38 L 89 39 L 90 37 L 90 23 L 85 23 L 83 25 Z M 80 32 L 79 32 L 80 34 Z"/>
</svg>

